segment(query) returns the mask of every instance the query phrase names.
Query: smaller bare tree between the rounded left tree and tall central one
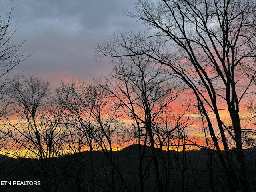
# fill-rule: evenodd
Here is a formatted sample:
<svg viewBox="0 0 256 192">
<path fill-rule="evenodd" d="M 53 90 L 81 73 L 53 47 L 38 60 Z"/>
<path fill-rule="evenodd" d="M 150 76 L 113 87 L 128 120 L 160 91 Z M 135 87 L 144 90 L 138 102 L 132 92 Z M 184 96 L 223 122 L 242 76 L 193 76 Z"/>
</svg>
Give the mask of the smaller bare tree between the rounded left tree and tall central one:
<svg viewBox="0 0 256 192">
<path fill-rule="evenodd" d="M 88 162 L 91 170 L 91 178 L 81 178 L 81 165 L 79 163 L 81 160 L 79 160 L 79 157 L 74 160 L 76 161 L 74 166 L 78 167 L 76 169 L 76 187 L 78 191 L 82 190 L 82 179 L 86 181 L 88 186 L 92 186 L 92 191 L 95 191 L 95 173 L 92 161 L 94 158 L 94 150 L 97 150 L 97 145 L 94 140 L 97 128 L 94 126 L 92 110 L 97 98 L 96 92 L 93 92 L 90 87 L 91 86 L 72 80 L 69 84 L 62 83 L 61 86 L 56 89 L 59 105 L 64 108 L 64 121 L 62 123 L 66 126 L 67 130 L 66 142 L 68 148 L 75 154 L 85 150 L 90 152 L 90 158 L 86 159 L 86 162 Z"/>
</svg>

